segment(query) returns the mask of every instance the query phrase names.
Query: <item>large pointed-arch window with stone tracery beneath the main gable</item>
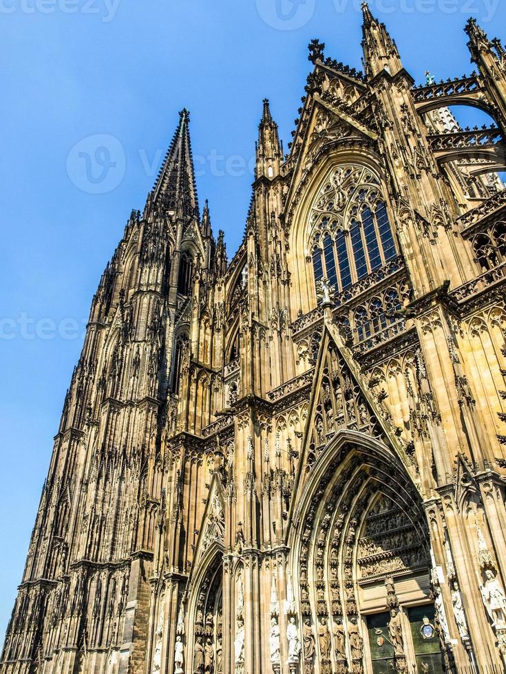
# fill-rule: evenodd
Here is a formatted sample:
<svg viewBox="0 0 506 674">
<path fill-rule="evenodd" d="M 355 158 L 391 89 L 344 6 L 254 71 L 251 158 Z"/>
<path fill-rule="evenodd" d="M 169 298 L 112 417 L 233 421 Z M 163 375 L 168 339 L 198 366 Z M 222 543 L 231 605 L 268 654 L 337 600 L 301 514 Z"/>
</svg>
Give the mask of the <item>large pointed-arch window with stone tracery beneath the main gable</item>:
<svg viewBox="0 0 506 674">
<path fill-rule="evenodd" d="M 343 292 L 397 257 L 379 179 L 363 166 L 330 173 L 310 213 L 315 282 L 327 279 Z"/>
</svg>

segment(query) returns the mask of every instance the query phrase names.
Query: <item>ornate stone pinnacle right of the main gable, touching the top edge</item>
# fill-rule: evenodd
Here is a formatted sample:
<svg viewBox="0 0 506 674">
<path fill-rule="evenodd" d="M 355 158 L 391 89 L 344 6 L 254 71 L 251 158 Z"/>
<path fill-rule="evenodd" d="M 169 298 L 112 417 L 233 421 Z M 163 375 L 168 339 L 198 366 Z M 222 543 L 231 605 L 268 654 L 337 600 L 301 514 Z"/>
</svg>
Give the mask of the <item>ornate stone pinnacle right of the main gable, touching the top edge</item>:
<svg viewBox="0 0 506 674">
<path fill-rule="evenodd" d="M 373 78 L 383 71 L 390 75 L 396 74 L 402 68 L 401 58 L 386 25 L 372 16 L 367 2 L 362 4 L 362 13 L 362 48 L 366 75 Z"/>
</svg>

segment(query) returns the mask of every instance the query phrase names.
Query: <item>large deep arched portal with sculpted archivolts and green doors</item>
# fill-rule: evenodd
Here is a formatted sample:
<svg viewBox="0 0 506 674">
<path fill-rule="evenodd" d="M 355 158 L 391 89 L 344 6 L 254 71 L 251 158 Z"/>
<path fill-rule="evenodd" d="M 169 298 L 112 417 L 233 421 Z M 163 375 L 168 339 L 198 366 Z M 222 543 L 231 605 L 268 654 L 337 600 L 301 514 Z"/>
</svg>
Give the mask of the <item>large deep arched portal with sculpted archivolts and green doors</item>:
<svg viewBox="0 0 506 674">
<path fill-rule="evenodd" d="M 311 473 L 293 534 L 306 671 L 441 674 L 428 526 L 402 462 L 339 431 Z"/>
</svg>

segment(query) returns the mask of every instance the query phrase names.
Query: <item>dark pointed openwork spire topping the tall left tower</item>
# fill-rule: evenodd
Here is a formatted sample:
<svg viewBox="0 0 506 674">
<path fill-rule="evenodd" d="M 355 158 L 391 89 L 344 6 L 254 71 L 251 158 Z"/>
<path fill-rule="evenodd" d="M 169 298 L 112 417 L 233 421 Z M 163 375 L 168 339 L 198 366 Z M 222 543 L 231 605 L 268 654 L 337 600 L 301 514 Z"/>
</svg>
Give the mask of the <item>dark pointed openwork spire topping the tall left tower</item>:
<svg viewBox="0 0 506 674">
<path fill-rule="evenodd" d="M 191 155 L 189 111 L 179 113 L 179 124 L 154 186 L 154 201 L 165 210 L 198 217 L 198 198 Z"/>
</svg>

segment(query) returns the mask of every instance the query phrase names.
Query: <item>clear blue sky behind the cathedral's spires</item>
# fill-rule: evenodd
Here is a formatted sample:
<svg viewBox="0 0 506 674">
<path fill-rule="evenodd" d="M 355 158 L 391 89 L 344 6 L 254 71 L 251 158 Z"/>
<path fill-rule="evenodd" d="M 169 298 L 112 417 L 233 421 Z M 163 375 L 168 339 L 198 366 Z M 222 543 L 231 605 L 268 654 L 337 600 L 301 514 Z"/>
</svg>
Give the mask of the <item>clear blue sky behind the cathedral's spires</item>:
<svg viewBox="0 0 506 674">
<path fill-rule="evenodd" d="M 470 72 L 474 15 L 499 0 L 372 0 L 421 82 Z M 262 98 L 291 139 L 306 45 L 361 69 L 357 0 L 0 0 L 0 640 L 89 304 L 191 111 L 200 204 L 229 256 L 244 230 Z M 502 33 L 502 35 L 500 34 Z"/>
</svg>

